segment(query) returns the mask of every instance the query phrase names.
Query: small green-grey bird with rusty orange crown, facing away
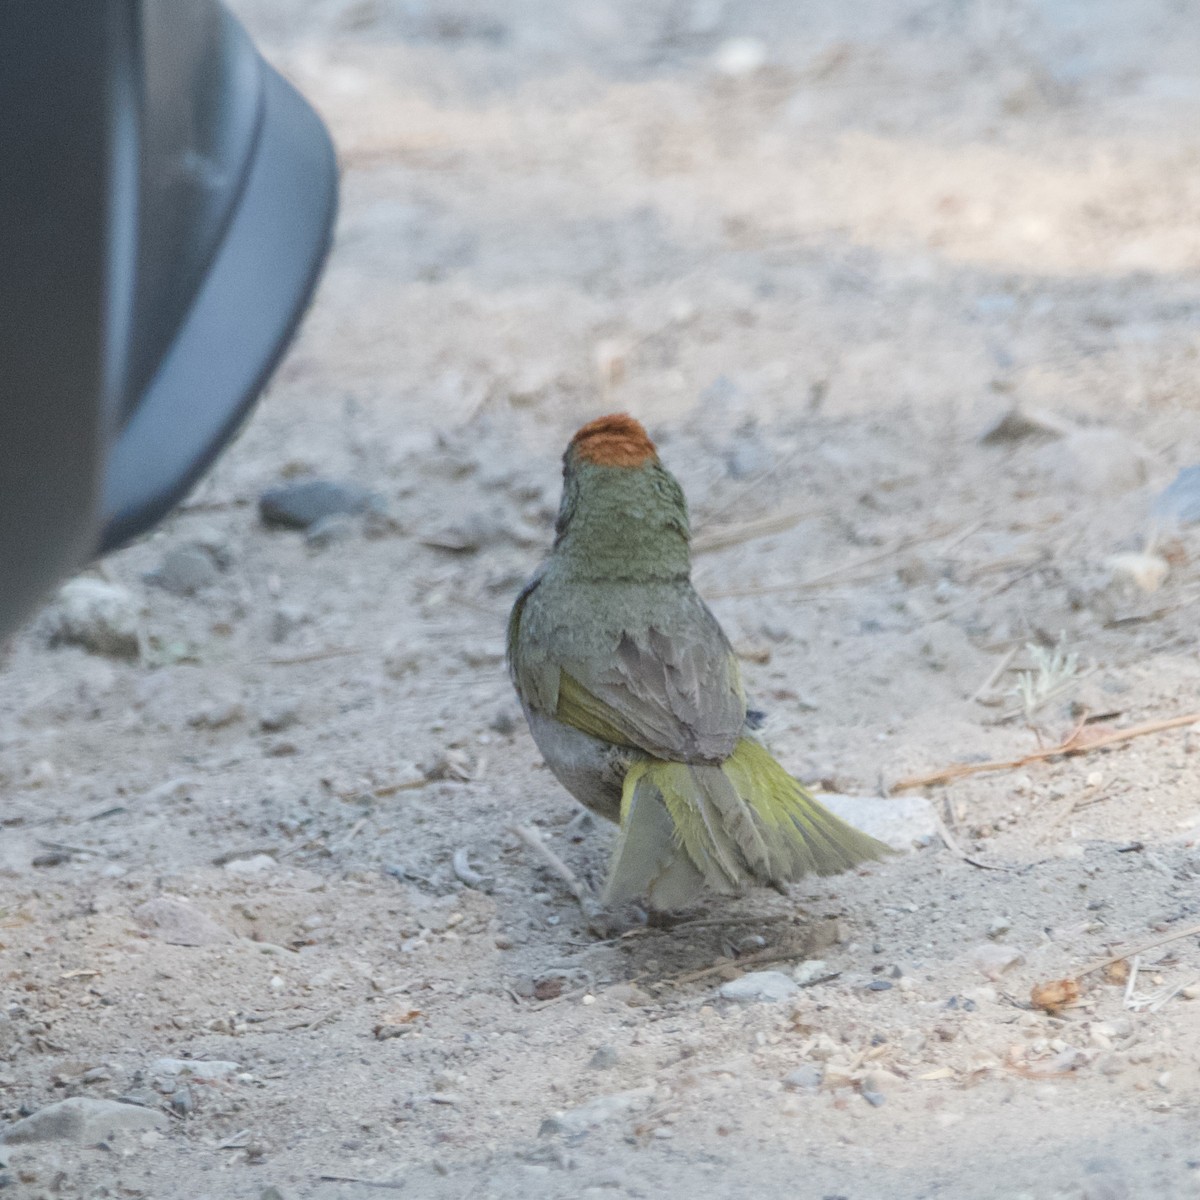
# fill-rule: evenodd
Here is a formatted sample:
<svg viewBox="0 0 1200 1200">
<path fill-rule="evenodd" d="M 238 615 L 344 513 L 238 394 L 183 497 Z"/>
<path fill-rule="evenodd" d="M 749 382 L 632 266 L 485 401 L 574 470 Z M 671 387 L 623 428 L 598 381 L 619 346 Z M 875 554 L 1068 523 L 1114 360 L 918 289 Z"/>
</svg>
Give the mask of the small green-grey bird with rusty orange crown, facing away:
<svg viewBox="0 0 1200 1200">
<path fill-rule="evenodd" d="M 618 826 L 606 906 L 786 890 L 888 852 L 758 740 L 737 656 L 691 583 L 683 490 L 632 416 L 571 438 L 553 546 L 512 606 L 506 650 L 546 766 Z"/>
</svg>

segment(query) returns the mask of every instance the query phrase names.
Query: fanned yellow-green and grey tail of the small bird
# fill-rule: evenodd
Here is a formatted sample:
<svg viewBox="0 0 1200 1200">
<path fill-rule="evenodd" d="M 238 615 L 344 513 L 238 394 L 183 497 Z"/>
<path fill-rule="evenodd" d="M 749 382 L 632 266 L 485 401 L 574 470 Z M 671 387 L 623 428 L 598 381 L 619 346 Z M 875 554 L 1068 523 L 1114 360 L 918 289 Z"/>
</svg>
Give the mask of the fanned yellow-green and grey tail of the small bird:
<svg viewBox="0 0 1200 1200">
<path fill-rule="evenodd" d="M 757 742 L 720 766 L 644 758 L 625 775 L 605 899 L 679 907 L 703 888 L 835 875 L 888 847 L 835 817 Z"/>
</svg>

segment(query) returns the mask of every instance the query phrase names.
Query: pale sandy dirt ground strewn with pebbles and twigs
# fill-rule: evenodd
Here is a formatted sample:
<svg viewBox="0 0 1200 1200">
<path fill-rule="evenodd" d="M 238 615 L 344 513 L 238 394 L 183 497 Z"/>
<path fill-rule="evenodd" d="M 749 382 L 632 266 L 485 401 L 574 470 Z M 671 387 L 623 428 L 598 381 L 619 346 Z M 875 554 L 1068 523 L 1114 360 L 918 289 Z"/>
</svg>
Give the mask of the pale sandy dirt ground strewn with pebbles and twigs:
<svg viewBox="0 0 1200 1200">
<path fill-rule="evenodd" d="M 338 142 L 325 280 L 212 475 L 97 568 L 137 658 L 48 611 L 0 673 L 0 1121 L 169 1124 L 12 1146 L 8 1193 L 1200 1195 L 1196 931 L 1030 1007 L 1200 920 L 1195 732 L 926 786 L 944 840 L 600 940 L 511 827 L 594 883 L 612 830 L 502 662 L 566 438 L 624 409 L 800 778 L 882 810 L 1200 710 L 1200 532 L 1151 527 L 1200 462 L 1200 11 L 236 8 Z M 1051 428 L 983 440 L 1014 404 Z M 308 475 L 386 516 L 264 528 Z M 193 544 L 202 592 L 145 580 Z M 1156 590 L 1112 563 L 1147 546 Z"/>
</svg>

